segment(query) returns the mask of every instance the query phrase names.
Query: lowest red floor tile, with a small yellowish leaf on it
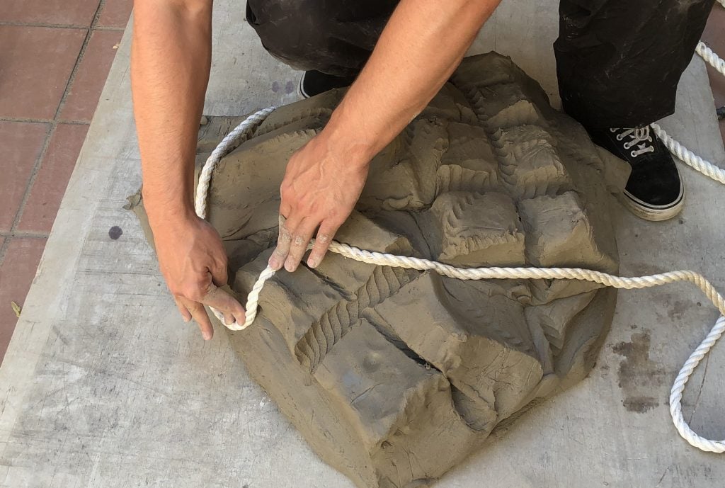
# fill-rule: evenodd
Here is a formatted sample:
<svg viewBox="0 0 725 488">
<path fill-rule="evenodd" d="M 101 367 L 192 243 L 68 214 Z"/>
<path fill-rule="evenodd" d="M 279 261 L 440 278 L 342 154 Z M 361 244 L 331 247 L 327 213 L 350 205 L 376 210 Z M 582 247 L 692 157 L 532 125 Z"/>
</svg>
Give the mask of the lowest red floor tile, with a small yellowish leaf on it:
<svg viewBox="0 0 725 488">
<path fill-rule="evenodd" d="M 5 355 L 17 317 L 10 307 L 16 302 L 22 307 L 25 295 L 36 276 L 46 239 L 10 239 L 5 259 L 0 266 L 0 360 Z"/>
</svg>

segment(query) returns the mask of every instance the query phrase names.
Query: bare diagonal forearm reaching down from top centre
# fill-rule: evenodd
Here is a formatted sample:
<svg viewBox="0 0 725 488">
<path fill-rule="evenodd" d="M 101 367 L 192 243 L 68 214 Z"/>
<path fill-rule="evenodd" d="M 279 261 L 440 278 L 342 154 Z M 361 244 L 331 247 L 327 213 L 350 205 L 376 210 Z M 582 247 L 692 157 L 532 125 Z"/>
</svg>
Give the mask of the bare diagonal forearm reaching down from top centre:
<svg viewBox="0 0 725 488">
<path fill-rule="evenodd" d="M 323 131 L 327 144 L 367 164 L 450 78 L 499 2 L 402 0 Z"/>
</svg>

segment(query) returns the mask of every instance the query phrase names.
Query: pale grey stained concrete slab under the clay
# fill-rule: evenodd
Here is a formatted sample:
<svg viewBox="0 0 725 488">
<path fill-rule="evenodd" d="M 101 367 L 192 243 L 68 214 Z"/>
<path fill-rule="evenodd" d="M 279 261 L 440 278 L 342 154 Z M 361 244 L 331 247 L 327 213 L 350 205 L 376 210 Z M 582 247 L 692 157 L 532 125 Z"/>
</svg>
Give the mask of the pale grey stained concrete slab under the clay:
<svg viewBox="0 0 725 488">
<path fill-rule="evenodd" d="M 555 11 L 551 0 L 505 2 L 474 50 L 509 54 L 553 95 Z M 212 115 L 295 99 L 285 87 L 297 73 L 265 54 L 243 15 L 236 2 L 215 4 Z M 121 208 L 140 183 L 129 33 L 0 368 L 0 487 L 350 487 L 249 380 L 225 334 L 204 343 L 183 324 L 136 220 Z M 725 163 L 699 59 L 684 76 L 677 114 L 662 125 Z M 681 218 L 653 224 L 621 211 L 621 272 L 700 270 L 724 290 L 724 189 L 683 173 Z M 109 236 L 113 226 L 123 229 L 119 239 Z M 532 410 L 439 486 L 721 484 L 722 458 L 680 439 L 667 407 L 671 381 L 716 310 L 686 284 L 619 297 L 589 379 Z M 687 420 L 708 437 L 725 437 L 724 373 L 725 349 L 716 347 L 685 394 Z M 642 408 L 645 397 L 657 406 Z"/>
</svg>

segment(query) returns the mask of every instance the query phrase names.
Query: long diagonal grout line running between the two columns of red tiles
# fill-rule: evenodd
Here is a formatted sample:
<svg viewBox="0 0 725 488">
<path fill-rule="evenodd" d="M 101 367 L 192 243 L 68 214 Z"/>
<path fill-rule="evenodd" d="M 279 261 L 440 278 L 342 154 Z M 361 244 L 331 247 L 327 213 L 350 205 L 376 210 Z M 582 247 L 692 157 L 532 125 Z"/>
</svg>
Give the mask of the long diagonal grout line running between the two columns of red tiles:
<svg viewBox="0 0 725 488">
<path fill-rule="evenodd" d="M 36 182 L 36 179 L 38 178 L 38 173 L 41 170 L 41 167 L 43 165 L 43 159 L 46 156 L 46 153 L 48 152 L 48 148 L 50 146 L 50 140 L 52 136 L 55 133 L 55 130 L 59 124 L 59 117 L 60 113 L 62 112 L 62 109 L 65 107 L 65 102 L 68 99 L 68 94 L 70 91 L 70 87 L 72 86 L 73 82 L 75 81 L 75 76 L 78 73 L 78 67 L 80 67 L 80 62 L 83 60 L 83 56 L 86 54 L 86 49 L 88 49 L 88 43 L 91 41 L 91 36 L 94 33 L 94 30 L 96 30 L 96 24 L 98 23 L 99 17 L 101 15 L 101 10 L 106 4 L 106 0 L 99 1 L 98 7 L 96 7 L 96 13 L 94 14 L 93 20 L 91 20 L 91 25 L 89 25 L 86 29 L 86 38 L 83 39 L 83 44 L 80 46 L 80 51 L 78 51 L 78 57 L 75 59 L 75 64 L 73 65 L 73 69 L 70 71 L 70 76 L 68 77 L 68 81 L 65 84 L 65 90 L 63 91 L 63 95 L 61 96 L 60 102 L 58 103 L 58 107 L 56 107 L 55 115 L 53 116 L 53 119 L 50 121 L 50 127 L 46 133 L 46 137 L 43 140 L 43 144 L 41 146 L 41 152 L 38 154 L 38 157 L 36 158 L 36 162 L 33 165 L 33 169 L 30 170 L 30 178 L 28 179 L 28 183 L 25 185 L 25 191 L 22 194 L 22 198 L 20 199 L 20 204 L 17 207 L 17 212 L 15 212 L 15 218 L 13 219 L 12 226 L 10 226 L 10 236 L 6 237 L 0 246 L 0 266 L 3 264 L 5 260 L 5 255 L 7 254 L 7 249 L 10 247 L 10 242 L 12 241 L 14 234 L 17 233 L 17 226 L 20 225 L 20 219 L 22 218 L 22 212 L 25 210 L 25 204 L 28 203 L 28 199 L 30 198 L 30 191 L 33 189 L 33 186 Z M 115 54 L 114 54 L 115 56 Z"/>
</svg>

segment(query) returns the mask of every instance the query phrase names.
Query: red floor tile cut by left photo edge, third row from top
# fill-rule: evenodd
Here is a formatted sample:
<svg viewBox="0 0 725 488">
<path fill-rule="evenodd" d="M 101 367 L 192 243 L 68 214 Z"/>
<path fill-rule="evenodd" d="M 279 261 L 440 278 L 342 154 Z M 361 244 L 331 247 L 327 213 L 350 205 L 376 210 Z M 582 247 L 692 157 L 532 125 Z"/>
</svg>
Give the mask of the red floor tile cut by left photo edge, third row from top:
<svg viewBox="0 0 725 488">
<path fill-rule="evenodd" d="M 0 231 L 9 231 L 49 124 L 0 122 Z"/>
</svg>

